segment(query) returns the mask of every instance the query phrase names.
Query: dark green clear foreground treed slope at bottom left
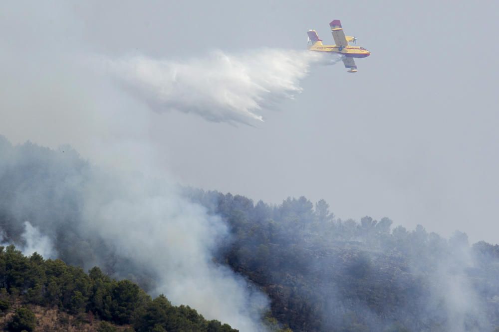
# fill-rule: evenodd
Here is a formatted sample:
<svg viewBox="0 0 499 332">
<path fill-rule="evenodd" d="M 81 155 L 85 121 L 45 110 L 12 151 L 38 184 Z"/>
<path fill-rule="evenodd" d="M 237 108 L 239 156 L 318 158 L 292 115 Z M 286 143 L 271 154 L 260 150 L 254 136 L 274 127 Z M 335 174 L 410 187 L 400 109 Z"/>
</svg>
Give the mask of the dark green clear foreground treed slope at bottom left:
<svg viewBox="0 0 499 332">
<path fill-rule="evenodd" d="M 45 308 L 45 315 L 37 319 L 33 311 L 40 308 Z M 44 326 L 43 316 L 54 308 L 58 310 L 55 324 Z M 238 331 L 216 320 L 207 321 L 188 306 L 173 306 L 163 295 L 151 299 L 136 284 L 113 280 L 98 267 L 87 274 L 59 259 L 44 260 L 37 253 L 26 257 L 13 245 L 0 246 L 0 310 L 3 329 L 13 332 L 41 327 L 102 332 Z"/>
</svg>

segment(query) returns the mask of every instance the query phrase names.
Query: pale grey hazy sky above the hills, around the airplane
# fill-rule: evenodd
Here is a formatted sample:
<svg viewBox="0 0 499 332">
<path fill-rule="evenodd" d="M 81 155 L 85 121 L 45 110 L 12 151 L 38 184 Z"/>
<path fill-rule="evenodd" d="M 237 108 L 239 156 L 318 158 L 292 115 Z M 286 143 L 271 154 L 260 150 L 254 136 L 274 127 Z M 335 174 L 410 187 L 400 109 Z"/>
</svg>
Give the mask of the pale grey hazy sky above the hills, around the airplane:
<svg viewBox="0 0 499 332">
<path fill-rule="evenodd" d="M 0 134 L 14 143 L 69 143 L 98 159 L 94 134 L 107 127 L 88 109 L 100 89 L 88 92 L 61 55 L 299 50 L 312 28 L 333 43 L 328 23 L 341 19 L 372 55 L 357 60 L 356 74 L 341 63 L 313 68 L 303 92 L 263 112 L 265 122 L 151 112 L 137 123 L 127 116 L 138 103 L 100 93 L 99 106 L 116 108 L 115 125 L 126 122 L 126 132 L 99 140 L 140 136 L 146 143 L 137 146 L 151 146 L 146 153 L 186 185 L 268 203 L 323 198 L 342 219 L 386 216 L 499 242 L 499 2 L 101 2 L 0 4 Z"/>
</svg>

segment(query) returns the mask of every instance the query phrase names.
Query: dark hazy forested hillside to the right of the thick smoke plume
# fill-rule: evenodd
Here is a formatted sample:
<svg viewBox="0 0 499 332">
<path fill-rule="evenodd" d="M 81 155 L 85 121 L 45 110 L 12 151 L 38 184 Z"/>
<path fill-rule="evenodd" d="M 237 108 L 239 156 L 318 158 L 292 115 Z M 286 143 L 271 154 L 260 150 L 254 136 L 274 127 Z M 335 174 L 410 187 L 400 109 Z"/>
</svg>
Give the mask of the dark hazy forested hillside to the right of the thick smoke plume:
<svg viewBox="0 0 499 332">
<path fill-rule="evenodd" d="M 218 259 L 263 287 L 293 331 L 493 331 L 499 246 L 392 221 L 342 221 L 321 200 L 279 206 L 188 190 L 230 224 Z M 464 329 L 464 330 L 463 330 Z M 499 329 L 498 329 L 499 330 Z"/>
</svg>

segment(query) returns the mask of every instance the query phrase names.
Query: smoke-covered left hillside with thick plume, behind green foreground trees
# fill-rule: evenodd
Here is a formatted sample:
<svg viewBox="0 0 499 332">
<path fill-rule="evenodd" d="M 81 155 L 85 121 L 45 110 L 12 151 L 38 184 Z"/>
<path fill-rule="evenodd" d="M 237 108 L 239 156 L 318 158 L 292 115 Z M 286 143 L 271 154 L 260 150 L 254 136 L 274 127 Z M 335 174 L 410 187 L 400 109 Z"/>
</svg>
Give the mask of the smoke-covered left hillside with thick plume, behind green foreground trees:
<svg viewBox="0 0 499 332">
<path fill-rule="evenodd" d="M 0 139 L 3 242 L 68 264 L 101 267 L 208 319 L 254 331 L 266 297 L 213 252 L 226 224 L 143 173 L 92 167 L 69 147 L 50 150 Z M 47 257 L 48 258 L 48 257 Z"/>
</svg>

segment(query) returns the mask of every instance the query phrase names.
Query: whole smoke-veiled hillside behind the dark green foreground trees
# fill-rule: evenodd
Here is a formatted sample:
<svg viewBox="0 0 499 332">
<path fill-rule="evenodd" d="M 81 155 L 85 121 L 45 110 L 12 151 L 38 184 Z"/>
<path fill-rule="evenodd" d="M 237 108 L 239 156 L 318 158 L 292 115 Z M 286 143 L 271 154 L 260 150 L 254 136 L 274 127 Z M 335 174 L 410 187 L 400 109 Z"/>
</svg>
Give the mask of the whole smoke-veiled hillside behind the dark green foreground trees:
<svg viewBox="0 0 499 332">
<path fill-rule="evenodd" d="M 2 138 L 3 242 L 84 269 L 97 265 L 152 294 L 171 294 L 176 304 L 208 312 L 210 319 L 227 322 L 216 316 L 227 316 L 229 309 L 206 310 L 199 297 L 232 301 L 246 313 L 236 323 L 249 325 L 231 323 L 241 331 L 263 329 L 258 322 L 267 301 L 271 316 L 293 331 L 499 326 L 497 245 L 470 246 L 464 233 L 447 240 L 421 225 L 393 227 L 387 218 L 340 220 L 325 201 L 314 205 L 304 197 L 278 206 L 195 189 L 175 189 L 170 197 L 171 184 L 158 179 L 147 188 L 150 201 L 137 210 L 143 184 L 117 176 L 89 165 L 69 147 L 12 146 Z M 179 211 L 192 217 L 176 222 Z M 166 231 L 158 237 L 152 232 L 159 229 Z M 199 286 L 213 292 L 193 293 Z"/>
</svg>

